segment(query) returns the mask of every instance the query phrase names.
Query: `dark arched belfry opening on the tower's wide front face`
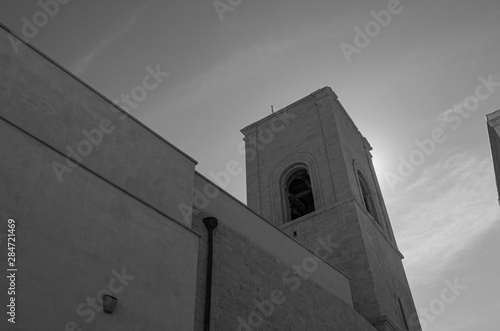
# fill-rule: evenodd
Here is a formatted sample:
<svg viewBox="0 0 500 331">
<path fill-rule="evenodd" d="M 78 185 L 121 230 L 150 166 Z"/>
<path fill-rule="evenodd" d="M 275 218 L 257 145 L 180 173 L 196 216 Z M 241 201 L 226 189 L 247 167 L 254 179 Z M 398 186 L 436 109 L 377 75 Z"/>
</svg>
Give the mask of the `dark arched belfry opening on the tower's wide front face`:
<svg viewBox="0 0 500 331">
<path fill-rule="evenodd" d="M 315 210 L 309 172 L 300 168 L 290 174 L 285 182 L 289 220 L 307 215 Z"/>
</svg>

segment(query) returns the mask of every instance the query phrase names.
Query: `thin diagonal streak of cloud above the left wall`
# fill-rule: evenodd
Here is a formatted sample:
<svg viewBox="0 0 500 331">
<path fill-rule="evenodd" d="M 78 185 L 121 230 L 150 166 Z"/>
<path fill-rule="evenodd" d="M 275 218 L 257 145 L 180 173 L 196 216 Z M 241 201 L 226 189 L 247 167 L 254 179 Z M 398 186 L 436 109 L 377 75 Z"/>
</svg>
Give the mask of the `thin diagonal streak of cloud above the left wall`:
<svg viewBox="0 0 500 331">
<path fill-rule="evenodd" d="M 82 72 L 85 71 L 87 66 L 92 62 L 92 60 L 99 54 L 101 53 L 106 47 L 108 47 L 111 43 L 116 41 L 118 38 L 123 36 L 125 33 L 130 31 L 136 23 L 142 18 L 146 10 L 155 2 L 158 0 L 151 0 L 147 2 L 144 6 L 138 8 L 135 10 L 130 18 L 125 21 L 118 29 L 113 31 L 110 35 L 108 35 L 106 38 L 102 39 L 99 41 L 99 43 L 85 56 L 80 58 L 78 61 L 76 61 L 73 72 L 76 74 L 81 74 Z"/>
</svg>

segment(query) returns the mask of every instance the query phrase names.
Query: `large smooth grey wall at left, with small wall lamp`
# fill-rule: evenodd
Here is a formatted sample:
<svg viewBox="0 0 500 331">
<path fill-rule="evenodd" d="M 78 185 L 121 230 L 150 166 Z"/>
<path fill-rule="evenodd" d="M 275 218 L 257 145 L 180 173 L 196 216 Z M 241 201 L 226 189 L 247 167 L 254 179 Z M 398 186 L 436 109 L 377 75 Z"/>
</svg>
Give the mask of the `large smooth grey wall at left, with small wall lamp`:
<svg viewBox="0 0 500 331">
<path fill-rule="evenodd" d="M 0 232 L 16 221 L 18 268 L 0 330 L 191 331 L 198 235 L 177 206 L 195 161 L 10 38 L 0 24 Z"/>
</svg>

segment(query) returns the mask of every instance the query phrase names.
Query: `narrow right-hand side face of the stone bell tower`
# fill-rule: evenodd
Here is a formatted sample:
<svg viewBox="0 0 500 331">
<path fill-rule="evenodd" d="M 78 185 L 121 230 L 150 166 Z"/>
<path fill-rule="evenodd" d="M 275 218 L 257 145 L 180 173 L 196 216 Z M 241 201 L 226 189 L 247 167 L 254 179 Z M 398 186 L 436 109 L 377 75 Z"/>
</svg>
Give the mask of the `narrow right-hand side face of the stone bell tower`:
<svg viewBox="0 0 500 331">
<path fill-rule="evenodd" d="M 359 220 L 364 249 L 368 254 L 369 266 L 375 285 L 374 289 L 380 305 L 380 314 L 381 316 L 387 316 L 392 323 L 403 329 L 397 298 L 401 299 L 407 319 L 416 309 L 401 261 L 402 257 L 397 249 L 392 226 L 373 169 L 371 156 L 366 150 L 364 137 L 349 115 L 343 110 L 342 105 L 337 101 L 334 107 L 337 108 L 335 114 L 343 146 L 344 160 L 348 169 L 347 174 L 358 202 L 355 205 L 356 218 Z M 380 224 L 368 213 L 361 202 L 357 177 L 353 167 L 355 160 L 370 186 Z M 410 323 L 408 322 L 408 324 Z M 418 330 L 419 326 L 409 325 L 409 327 L 411 330 Z"/>
</svg>

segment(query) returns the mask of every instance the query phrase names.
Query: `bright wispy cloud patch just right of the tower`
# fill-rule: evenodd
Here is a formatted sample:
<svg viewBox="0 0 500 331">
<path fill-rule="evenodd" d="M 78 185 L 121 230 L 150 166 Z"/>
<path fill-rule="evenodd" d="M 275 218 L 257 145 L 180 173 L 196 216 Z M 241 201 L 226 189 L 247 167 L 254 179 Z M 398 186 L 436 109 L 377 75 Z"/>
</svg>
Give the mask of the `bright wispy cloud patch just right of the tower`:
<svg viewBox="0 0 500 331">
<path fill-rule="evenodd" d="M 477 239 L 500 220 L 500 210 L 487 148 L 442 158 L 417 183 L 406 191 L 411 202 L 389 208 L 395 210 L 408 274 L 418 285 L 439 277 L 457 254 L 480 244 Z"/>
</svg>

